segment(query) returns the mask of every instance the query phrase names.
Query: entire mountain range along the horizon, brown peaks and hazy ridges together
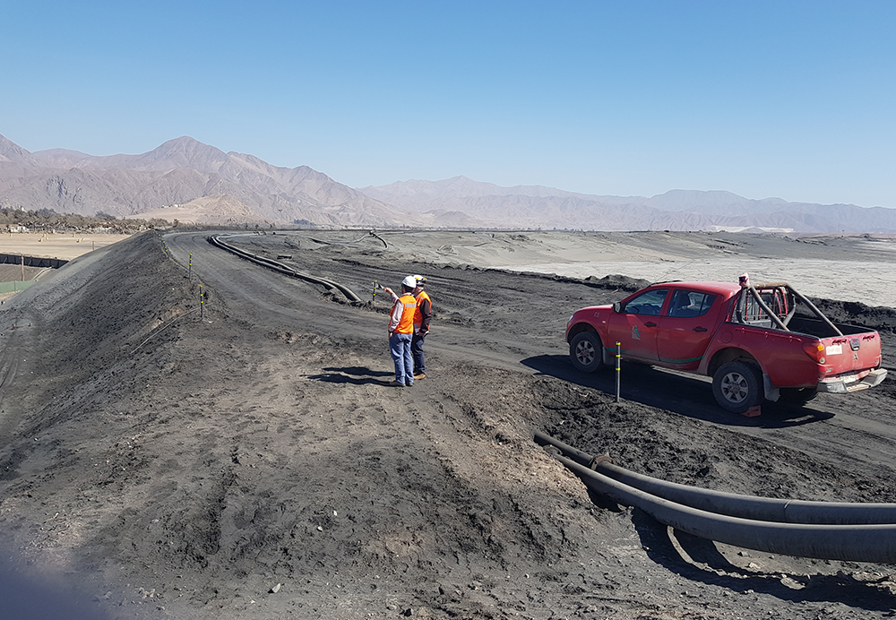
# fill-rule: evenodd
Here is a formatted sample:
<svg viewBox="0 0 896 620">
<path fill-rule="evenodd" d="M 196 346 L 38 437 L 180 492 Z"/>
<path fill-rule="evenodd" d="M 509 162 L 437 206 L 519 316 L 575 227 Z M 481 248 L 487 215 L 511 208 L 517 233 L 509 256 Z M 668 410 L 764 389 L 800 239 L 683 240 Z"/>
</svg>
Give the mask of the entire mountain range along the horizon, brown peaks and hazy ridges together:
<svg viewBox="0 0 896 620">
<path fill-rule="evenodd" d="M 467 177 L 351 188 L 307 166 L 279 168 L 190 137 L 139 155 L 99 157 L 29 152 L 0 135 L 0 208 L 212 225 L 896 233 L 896 209 L 724 191 L 591 195 Z"/>
</svg>

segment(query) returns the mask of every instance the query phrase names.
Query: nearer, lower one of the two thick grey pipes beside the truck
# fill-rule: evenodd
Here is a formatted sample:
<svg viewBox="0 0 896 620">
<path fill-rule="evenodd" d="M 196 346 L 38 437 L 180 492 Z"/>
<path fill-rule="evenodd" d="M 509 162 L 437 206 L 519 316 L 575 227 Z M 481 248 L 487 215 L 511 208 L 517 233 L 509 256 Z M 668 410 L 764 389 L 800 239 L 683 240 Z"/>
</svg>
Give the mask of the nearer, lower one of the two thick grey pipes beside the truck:
<svg viewBox="0 0 896 620">
<path fill-rule="evenodd" d="M 545 441 L 546 438 L 552 441 Z M 564 448 L 557 445 L 561 442 L 547 435 L 538 434 L 536 439 L 564 452 Z M 572 452 L 569 453 L 577 458 L 587 456 L 585 452 L 561 444 L 570 448 Z M 896 524 L 819 525 L 733 517 L 678 504 L 625 485 L 564 456 L 556 458 L 582 478 L 592 491 L 619 504 L 637 507 L 660 523 L 694 536 L 776 554 L 849 562 L 896 562 Z"/>
</svg>

